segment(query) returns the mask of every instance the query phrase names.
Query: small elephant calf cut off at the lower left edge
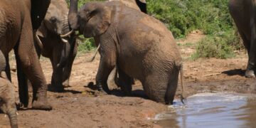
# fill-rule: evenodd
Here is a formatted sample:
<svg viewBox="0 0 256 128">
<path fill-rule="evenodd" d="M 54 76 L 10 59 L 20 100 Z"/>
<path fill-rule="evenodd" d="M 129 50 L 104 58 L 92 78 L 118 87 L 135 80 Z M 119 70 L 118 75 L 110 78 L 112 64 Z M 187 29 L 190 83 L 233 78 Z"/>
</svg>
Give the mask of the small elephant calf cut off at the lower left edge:
<svg viewBox="0 0 256 128">
<path fill-rule="evenodd" d="M 6 59 L 0 50 L 0 110 L 8 114 L 11 127 L 14 128 L 18 127 L 14 85 L 8 80 L 5 68 Z"/>
</svg>

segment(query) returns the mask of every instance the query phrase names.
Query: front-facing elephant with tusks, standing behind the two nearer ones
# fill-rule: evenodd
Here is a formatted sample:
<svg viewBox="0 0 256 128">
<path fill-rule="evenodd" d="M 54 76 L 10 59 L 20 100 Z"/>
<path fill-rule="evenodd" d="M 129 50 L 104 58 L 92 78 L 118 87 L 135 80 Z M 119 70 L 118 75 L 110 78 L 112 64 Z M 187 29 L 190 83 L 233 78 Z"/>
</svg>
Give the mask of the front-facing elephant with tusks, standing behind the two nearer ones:
<svg viewBox="0 0 256 128">
<path fill-rule="evenodd" d="M 68 4 L 65 0 L 51 0 L 46 17 L 36 31 L 35 46 L 39 57 L 43 55 L 50 58 L 53 75 L 49 90 L 54 92 L 61 92 L 69 86 L 73 61 L 78 51 L 74 36 L 60 37 L 60 34 L 69 31 Z"/>
</svg>

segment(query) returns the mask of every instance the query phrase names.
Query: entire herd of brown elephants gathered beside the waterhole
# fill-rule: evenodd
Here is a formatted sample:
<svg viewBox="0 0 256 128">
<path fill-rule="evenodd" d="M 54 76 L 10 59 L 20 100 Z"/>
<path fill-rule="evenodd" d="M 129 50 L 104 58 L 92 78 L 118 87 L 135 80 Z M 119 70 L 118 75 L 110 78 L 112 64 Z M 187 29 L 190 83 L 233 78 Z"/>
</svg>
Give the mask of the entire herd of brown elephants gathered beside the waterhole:
<svg viewBox="0 0 256 128">
<path fill-rule="evenodd" d="M 28 107 L 31 85 L 32 108 L 51 110 L 47 90 L 62 92 L 69 86 L 79 35 L 94 38 L 98 46 L 98 91 L 110 94 L 111 76 L 131 95 L 137 79 L 149 99 L 172 104 L 180 74 L 183 100 L 181 54 L 171 31 L 146 14 L 145 0 L 94 1 L 79 11 L 78 0 L 70 0 L 69 10 L 65 0 L 1 0 L 0 5 L 0 109 L 9 115 L 11 127 L 18 122 L 9 52 L 14 49 L 16 56 L 19 107 Z M 229 9 L 249 55 L 245 76 L 255 78 L 255 1 L 230 0 Z M 39 63 L 41 55 L 53 66 L 50 85 Z"/>
</svg>

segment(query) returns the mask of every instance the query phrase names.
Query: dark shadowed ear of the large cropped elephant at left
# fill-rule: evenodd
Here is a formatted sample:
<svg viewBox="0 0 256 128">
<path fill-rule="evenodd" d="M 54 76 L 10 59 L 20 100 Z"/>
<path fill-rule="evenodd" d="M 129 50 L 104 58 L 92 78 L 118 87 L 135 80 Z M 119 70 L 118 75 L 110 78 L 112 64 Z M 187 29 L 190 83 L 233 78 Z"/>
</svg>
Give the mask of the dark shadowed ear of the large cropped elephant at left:
<svg viewBox="0 0 256 128">
<path fill-rule="evenodd" d="M 50 0 L 31 0 L 31 22 L 33 30 L 41 26 L 49 5 Z"/>
</svg>

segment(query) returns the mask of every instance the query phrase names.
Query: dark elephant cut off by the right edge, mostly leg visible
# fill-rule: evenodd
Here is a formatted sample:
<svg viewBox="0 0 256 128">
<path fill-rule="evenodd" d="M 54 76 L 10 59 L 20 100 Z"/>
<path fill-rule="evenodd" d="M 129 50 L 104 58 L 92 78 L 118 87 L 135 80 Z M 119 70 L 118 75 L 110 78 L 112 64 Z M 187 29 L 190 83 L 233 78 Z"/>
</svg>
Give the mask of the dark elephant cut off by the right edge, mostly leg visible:
<svg viewBox="0 0 256 128">
<path fill-rule="evenodd" d="M 256 1 L 253 0 L 230 0 L 228 8 L 238 27 L 238 32 L 243 44 L 247 49 L 248 62 L 245 77 L 255 78 L 255 55 L 256 55 Z"/>
</svg>

